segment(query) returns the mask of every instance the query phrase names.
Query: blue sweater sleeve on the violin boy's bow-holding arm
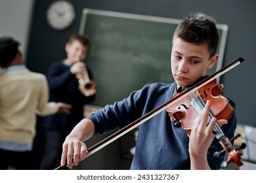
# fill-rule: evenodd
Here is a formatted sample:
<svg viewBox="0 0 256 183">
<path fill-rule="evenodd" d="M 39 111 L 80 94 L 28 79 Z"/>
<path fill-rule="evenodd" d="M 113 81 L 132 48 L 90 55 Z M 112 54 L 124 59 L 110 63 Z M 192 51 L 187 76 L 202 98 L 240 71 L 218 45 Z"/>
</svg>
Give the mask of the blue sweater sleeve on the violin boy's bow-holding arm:
<svg viewBox="0 0 256 183">
<path fill-rule="evenodd" d="M 103 134 L 137 120 L 142 116 L 143 107 L 146 103 L 146 93 L 150 84 L 141 90 L 132 92 L 129 97 L 94 112 L 87 117 L 95 124 L 95 134 Z"/>
</svg>

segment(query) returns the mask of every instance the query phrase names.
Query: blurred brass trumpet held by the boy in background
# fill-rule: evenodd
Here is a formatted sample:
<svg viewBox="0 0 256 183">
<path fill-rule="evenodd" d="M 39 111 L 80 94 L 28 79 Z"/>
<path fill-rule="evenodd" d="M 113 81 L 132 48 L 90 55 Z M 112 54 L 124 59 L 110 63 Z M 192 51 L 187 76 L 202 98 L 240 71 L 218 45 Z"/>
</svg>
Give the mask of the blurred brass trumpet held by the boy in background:
<svg viewBox="0 0 256 183">
<path fill-rule="evenodd" d="M 82 77 L 79 78 L 79 87 L 78 89 L 83 93 L 83 95 L 90 97 L 92 95 L 95 95 L 96 93 L 96 84 L 93 80 L 90 80 L 87 68 L 84 67 L 82 70 Z"/>
</svg>

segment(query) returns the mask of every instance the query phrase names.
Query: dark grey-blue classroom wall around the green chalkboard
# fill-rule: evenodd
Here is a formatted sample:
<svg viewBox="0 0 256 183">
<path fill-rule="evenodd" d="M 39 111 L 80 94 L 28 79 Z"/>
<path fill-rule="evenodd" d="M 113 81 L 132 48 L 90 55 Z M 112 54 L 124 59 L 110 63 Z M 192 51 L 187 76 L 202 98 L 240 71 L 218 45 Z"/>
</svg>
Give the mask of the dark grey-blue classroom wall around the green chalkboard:
<svg viewBox="0 0 256 183">
<path fill-rule="evenodd" d="M 55 31 L 46 22 L 45 12 L 52 2 L 53 0 L 35 1 L 34 5 L 27 61 L 30 69 L 40 73 L 47 73 L 49 63 L 65 58 L 64 44 L 72 33 L 79 31 L 83 8 L 177 19 L 182 19 L 188 12 L 202 11 L 215 17 L 218 24 L 227 24 L 229 29 L 223 65 L 239 57 L 245 57 L 246 60 L 242 65 L 221 76 L 224 94 L 236 102 L 239 124 L 256 125 L 253 118 L 255 108 L 253 94 L 256 88 L 253 81 L 256 78 L 254 71 L 256 1 L 76 0 L 72 2 L 75 5 L 77 18 L 74 25 L 65 31 Z"/>
</svg>

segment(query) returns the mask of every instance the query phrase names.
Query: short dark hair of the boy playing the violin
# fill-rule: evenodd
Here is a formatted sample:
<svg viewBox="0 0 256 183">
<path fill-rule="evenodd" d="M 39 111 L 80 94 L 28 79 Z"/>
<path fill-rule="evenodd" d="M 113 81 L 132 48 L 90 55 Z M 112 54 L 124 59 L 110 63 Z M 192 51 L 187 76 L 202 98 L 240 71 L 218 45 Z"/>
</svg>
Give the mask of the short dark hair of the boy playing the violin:
<svg viewBox="0 0 256 183">
<path fill-rule="evenodd" d="M 216 21 L 202 12 L 188 14 L 175 30 L 175 37 L 195 44 L 207 44 L 210 58 L 217 52 L 219 32 Z"/>
</svg>

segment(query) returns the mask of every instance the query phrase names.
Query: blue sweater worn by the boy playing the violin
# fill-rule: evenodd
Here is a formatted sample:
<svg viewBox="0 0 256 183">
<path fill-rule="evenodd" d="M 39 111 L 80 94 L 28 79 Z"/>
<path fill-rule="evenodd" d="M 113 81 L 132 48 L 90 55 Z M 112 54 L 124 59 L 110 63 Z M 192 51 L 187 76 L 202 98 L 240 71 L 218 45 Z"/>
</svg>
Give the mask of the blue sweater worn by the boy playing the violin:
<svg viewBox="0 0 256 183">
<path fill-rule="evenodd" d="M 127 99 L 98 110 L 88 117 L 95 124 L 95 134 L 120 129 L 144 116 L 171 99 L 175 86 L 175 83 L 147 84 L 141 90 L 131 93 Z M 230 105 L 235 107 L 231 100 Z M 235 113 L 222 129 L 228 138 L 234 136 Z M 160 112 L 140 125 L 131 169 L 190 169 L 188 141 L 186 131 L 174 125 L 166 111 Z M 213 154 L 220 150 L 221 145 L 215 138 L 207 153 L 211 169 L 221 169 L 222 160 L 213 158 Z"/>
</svg>

